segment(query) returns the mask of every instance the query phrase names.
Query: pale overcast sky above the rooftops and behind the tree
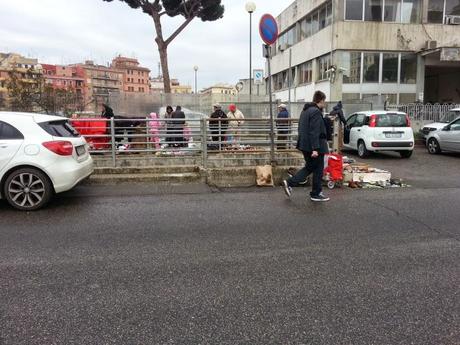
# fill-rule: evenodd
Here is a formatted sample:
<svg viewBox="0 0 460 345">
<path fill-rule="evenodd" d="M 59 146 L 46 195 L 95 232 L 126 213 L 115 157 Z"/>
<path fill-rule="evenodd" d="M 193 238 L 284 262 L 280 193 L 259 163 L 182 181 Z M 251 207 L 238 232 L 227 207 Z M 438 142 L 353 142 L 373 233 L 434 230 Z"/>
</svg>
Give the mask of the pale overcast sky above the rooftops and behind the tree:
<svg viewBox="0 0 460 345">
<path fill-rule="evenodd" d="M 275 17 L 293 0 L 255 1 L 253 67 L 263 68 L 258 23 L 264 13 Z M 223 0 L 224 18 L 195 19 L 169 47 L 172 77 L 193 85 L 193 66 L 199 66 L 198 87 L 236 83 L 249 74 L 249 14 L 246 0 Z M 181 19 L 163 17 L 171 33 Z M 70 64 L 94 60 L 106 64 L 118 54 L 136 57 L 158 74 L 159 55 L 153 21 L 141 10 L 120 1 L 0 0 L 0 52 L 17 52 L 42 63 Z"/>
</svg>

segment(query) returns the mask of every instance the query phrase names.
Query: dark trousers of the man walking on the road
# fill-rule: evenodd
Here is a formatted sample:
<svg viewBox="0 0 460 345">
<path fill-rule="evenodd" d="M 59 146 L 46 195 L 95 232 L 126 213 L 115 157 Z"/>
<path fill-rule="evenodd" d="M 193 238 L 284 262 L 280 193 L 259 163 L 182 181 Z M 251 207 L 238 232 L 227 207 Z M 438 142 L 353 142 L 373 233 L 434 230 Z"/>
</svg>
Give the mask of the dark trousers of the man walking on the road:
<svg viewBox="0 0 460 345">
<path fill-rule="evenodd" d="M 292 176 L 287 183 L 291 187 L 298 186 L 307 177 L 313 173 L 313 184 L 310 196 L 319 196 L 323 190 L 323 171 L 324 171 L 324 154 L 319 154 L 318 157 L 312 158 L 311 152 L 304 152 L 305 167 L 300 169 L 295 176 Z"/>
</svg>

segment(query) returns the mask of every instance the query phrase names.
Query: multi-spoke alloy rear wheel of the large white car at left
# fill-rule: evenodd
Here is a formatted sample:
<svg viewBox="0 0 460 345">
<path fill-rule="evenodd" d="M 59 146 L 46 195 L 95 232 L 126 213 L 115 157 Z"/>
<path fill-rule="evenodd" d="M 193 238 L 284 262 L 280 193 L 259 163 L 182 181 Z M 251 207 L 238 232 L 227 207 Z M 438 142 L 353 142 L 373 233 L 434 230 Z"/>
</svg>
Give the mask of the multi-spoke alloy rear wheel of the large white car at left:
<svg viewBox="0 0 460 345">
<path fill-rule="evenodd" d="M 5 181 L 3 195 L 8 203 L 21 211 L 35 211 L 51 199 L 53 188 L 48 177 L 38 169 L 13 171 Z"/>
</svg>

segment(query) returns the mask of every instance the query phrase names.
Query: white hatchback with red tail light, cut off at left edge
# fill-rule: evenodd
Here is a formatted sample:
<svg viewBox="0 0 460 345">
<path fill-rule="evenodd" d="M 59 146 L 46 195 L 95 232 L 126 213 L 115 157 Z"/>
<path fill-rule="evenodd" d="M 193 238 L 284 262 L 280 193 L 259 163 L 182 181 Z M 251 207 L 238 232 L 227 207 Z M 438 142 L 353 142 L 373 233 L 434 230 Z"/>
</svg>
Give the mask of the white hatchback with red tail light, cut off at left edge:
<svg viewBox="0 0 460 345">
<path fill-rule="evenodd" d="M 0 198 L 13 207 L 37 210 L 92 172 L 86 140 L 66 118 L 0 112 Z"/>
</svg>

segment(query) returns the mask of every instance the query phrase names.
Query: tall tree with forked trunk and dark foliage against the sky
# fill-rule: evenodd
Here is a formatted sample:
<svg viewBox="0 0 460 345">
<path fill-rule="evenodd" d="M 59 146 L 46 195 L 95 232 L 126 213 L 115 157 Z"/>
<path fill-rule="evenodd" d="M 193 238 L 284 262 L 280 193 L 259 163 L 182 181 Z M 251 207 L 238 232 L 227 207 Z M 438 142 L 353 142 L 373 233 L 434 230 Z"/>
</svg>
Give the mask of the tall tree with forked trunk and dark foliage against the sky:
<svg viewBox="0 0 460 345">
<path fill-rule="evenodd" d="M 113 0 L 103 0 L 112 2 Z M 224 15 L 224 6 L 221 0 L 119 0 L 127 3 L 131 8 L 142 9 L 148 14 L 155 25 L 156 38 L 160 54 L 161 70 L 163 72 L 163 82 L 165 93 L 171 93 L 171 78 L 168 67 L 168 46 L 195 18 L 202 21 L 215 21 Z M 163 35 L 161 18 L 182 16 L 184 22 L 168 37 Z"/>
</svg>

